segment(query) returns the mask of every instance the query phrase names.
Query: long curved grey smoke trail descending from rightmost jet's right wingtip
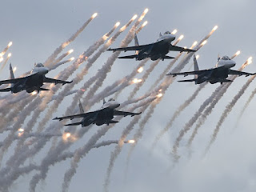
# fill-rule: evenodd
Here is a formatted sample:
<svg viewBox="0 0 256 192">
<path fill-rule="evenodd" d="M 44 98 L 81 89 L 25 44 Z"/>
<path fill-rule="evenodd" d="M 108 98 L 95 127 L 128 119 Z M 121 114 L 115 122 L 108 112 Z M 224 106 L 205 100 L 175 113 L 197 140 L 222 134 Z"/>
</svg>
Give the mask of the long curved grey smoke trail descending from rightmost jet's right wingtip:
<svg viewBox="0 0 256 192">
<path fill-rule="evenodd" d="M 238 99 L 241 98 L 242 94 L 244 94 L 244 92 L 246 91 L 248 86 L 250 86 L 250 83 L 253 82 L 255 77 L 256 76 L 254 75 L 251 78 L 249 78 L 248 81 L 246 82 L 246 84 L 242 86 L 241 90 L 238 91 L 238 94 L 236 94 L 234 96 L 234 98 L 232 99 L 232 101 L 226 106 L 226 109 L 223 111 L 222 116 L 221 116 L 221 118 L 219 118 L 217 126 L 214 129 L 214 134 L 212 135 L 212 137 L 210 139 L 210 142 L 209 142 L 208 146 L 206 147 L 205 154 L 210 150 L 210 146 L 216 140 L 217 135 L 218 135 L 218 131 L 220 130 L 220 128 L 222 126 L 222 123 L 225 121 L 225 119 L 228 116 L 228 114 L 230 114 L 230 112 L 233 109 L 234 105 L 236 104 L 236 102 L 238 102 Z"/>
</svg>

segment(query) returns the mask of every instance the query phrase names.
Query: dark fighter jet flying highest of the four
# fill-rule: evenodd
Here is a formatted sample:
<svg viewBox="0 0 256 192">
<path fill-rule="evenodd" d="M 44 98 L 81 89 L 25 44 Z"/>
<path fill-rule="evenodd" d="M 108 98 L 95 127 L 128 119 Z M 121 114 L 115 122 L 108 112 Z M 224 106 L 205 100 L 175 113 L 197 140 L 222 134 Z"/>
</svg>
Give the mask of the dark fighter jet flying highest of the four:
<svg viewBox="0 0 256 192">
<path fill-rule="evenodd" d="M 162 61 L 164 59 L 171 59 L 173 57 L 170 57 L 166 54 L 169 53 L 170 50 L 179 51 L 179 52 L 195 52 L 196 50 L 190 50 L 186 49 L 180 46 L 173 46 L 171 45 L 171 42 L 174 41 L 176 36 L 174 34 L 170 34 L 170 31 L 166 31 L 164 34 L 159 34 L 159 38 L 156 42 L 150 43 L 147 45 L 138 45 L 138 38 L 137 35 L 134 35 L 134 42 L 135 46 L 127 46 L 127 47 L 121 47 L 121 48 L 115 48 L 115 49 L 108 49 L 113 50 L 113 52 L 117 50 L 124 50 L 125 52 L 127 50 L 135 50 L 135 54 L 133 55 L 127 55 L 123 57 L 118 58 L 135 58 L 136 60 L 142 60 L 145 58 L 151 58 L 152 61 L 157 60 L 158 58 L 161 58 Z"/>
</svg>

